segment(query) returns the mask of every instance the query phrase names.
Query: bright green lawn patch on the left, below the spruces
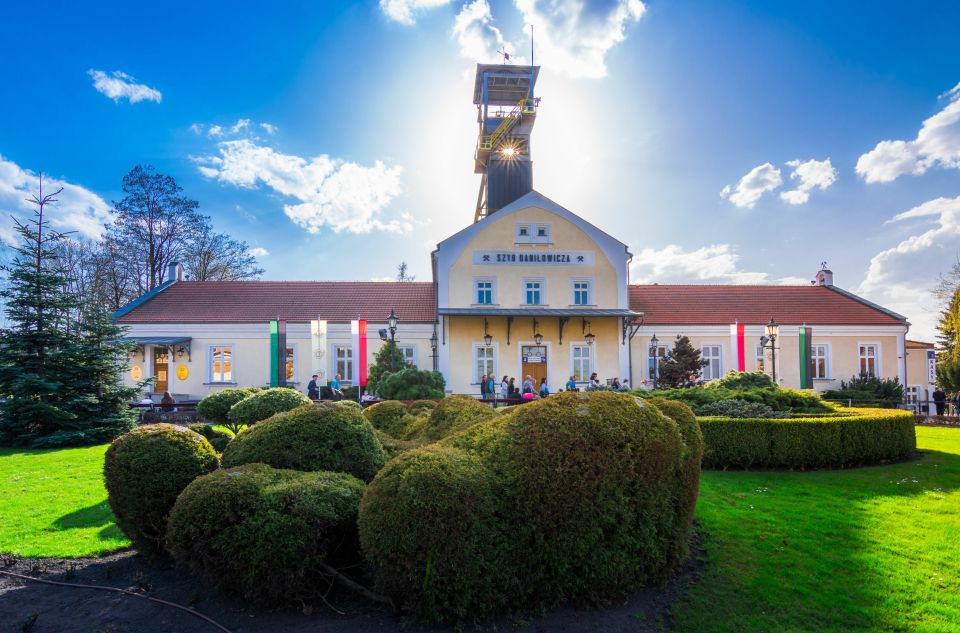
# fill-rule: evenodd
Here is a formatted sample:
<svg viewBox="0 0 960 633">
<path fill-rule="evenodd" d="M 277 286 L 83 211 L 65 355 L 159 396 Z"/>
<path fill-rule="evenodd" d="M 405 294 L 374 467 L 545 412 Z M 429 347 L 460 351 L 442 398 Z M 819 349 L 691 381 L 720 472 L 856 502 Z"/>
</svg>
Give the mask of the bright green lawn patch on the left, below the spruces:
<svg viewBox="0 0 960 633">
<path fill-rule="evenodd" d="M 0 552 L 76 557 L 129 546 L 107 505 L 106 450 L 0 449 Z"/>
</svg>

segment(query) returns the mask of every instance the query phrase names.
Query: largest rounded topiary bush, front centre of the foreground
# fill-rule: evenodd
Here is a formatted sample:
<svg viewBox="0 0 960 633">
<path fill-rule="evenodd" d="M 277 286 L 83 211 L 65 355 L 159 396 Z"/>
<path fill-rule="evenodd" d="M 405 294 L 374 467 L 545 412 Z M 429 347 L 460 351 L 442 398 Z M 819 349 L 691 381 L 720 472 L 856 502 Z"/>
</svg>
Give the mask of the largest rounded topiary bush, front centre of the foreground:
<svg viewBox="0 0 960 633">
<path fill-rule="evenodd" d="M 364 494 L 361 545 L 377 586 L 427 620 L 608 603 L 684 551 L 699 450 L 689 414 L 557 394 L 391 461 Z"/>
</svg>

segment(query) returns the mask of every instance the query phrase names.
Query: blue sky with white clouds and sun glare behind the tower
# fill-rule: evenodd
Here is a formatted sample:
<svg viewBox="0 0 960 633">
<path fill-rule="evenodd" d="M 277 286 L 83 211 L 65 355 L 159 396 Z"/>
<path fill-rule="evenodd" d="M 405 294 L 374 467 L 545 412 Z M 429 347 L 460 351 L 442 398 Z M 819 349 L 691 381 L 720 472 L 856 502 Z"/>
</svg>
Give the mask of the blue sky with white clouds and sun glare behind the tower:
<svg viewBox="0 0 960 633">
<path fill-rule="evenodd" d="M 535 186 L 627 242 L 634 280 L 827 261 L 928 338 L 960 251 L 956 3 L 79 4 L 5 8 L 0 206 L 42 170 L 82 234 L 148 163 L 267 279 L 428 280 L 473 217 L 473 64 L 526 61 L 533 23 Z"/>
</svg>

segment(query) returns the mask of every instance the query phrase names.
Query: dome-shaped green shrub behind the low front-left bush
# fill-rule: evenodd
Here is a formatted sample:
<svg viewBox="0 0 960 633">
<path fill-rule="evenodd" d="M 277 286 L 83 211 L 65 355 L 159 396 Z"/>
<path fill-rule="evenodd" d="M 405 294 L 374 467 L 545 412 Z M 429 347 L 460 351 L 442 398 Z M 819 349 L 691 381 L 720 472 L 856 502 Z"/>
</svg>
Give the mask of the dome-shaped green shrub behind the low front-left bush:
<svg viewBox="0 0 960 633">
<path fill-rule="evenodd" d="M 385 461 L 383 445 L 359 411 L 312 404 L 244 429 L 223 452 L 228 468 L 259 462 L 274 468 L 345 472 L 364 481 Z"/>
</svg>

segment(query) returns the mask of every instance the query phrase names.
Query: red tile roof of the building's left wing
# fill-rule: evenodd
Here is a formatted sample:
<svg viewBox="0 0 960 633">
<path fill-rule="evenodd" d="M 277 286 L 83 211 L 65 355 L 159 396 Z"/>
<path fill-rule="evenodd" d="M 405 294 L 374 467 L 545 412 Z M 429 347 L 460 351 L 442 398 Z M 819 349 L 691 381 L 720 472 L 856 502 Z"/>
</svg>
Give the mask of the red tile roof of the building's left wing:
<svg viewBox="0 0 960 633">
<path fill-rule="evenodd" d="M 433 284 L 396 281 L 178 281 L 120 317 L 130 323 L 383 323 L 390 309 L 405 323 L 432 323 Z"/>
</svg>

